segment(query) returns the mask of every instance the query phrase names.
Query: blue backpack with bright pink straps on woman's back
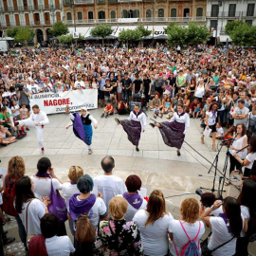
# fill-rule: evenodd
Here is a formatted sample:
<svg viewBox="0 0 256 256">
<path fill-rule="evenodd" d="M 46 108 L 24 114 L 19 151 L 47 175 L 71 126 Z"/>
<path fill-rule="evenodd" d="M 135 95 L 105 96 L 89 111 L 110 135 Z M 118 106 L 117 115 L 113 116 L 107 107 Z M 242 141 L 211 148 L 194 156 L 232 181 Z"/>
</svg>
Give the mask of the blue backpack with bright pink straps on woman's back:
<svg viewBox="0 0 256 256">
<path fill-rule="evenodd" d="M 198 229 L 198 232 L 196 234 L 196 236 L 191 239 L 189 234 L 187 233 L 186 229 L 184 228 L 184 226 L 182 225 L 181 221 L 179 221 L 182 229 L 184 230 L 184 232 L 186 233 L 187 237 L 189 238 L 189 242 L 183 247 L 182 251 L 180 254 L 178 254 L 178 251 L 177 251 L 177 247 L 174 243 L 174 247 L 175 247 L 175 250 L 176 250 L 176 254 L 177 256 L 200 256 L 200 246 L 199 246 L 199 241 L 197 242 L 197 245 L 195 243 L 195 240 L 197 239 L 199 233 L 200 233 L 200 230 L 201 230 L 201 222 L 199 222 L 199 229 Z"/>
</svg>

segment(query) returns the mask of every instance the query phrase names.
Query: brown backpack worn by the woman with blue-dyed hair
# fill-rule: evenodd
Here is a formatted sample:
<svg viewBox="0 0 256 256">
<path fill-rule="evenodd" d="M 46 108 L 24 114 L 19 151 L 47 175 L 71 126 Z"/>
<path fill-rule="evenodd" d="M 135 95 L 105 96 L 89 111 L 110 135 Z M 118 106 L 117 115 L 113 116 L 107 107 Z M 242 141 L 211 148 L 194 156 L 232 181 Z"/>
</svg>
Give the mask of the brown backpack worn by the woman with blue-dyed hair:
<svg viewBox="0 0 256 256">
<path fill-rule="evenodd" d="M 88 215 L 82 215 L 76 224 L 76 240 L 82 243 L 95 241 L 96 230 L 94 229 Z"/>
</svg>

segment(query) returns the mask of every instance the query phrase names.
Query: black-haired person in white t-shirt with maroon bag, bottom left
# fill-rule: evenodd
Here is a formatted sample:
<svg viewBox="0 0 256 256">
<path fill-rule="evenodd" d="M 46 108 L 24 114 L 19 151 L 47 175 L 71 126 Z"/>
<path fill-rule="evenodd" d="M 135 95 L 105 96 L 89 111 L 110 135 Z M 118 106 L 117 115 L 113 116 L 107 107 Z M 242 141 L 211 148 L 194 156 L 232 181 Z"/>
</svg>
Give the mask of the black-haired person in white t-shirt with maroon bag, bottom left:
<svg viewBox="0 0 256 256">
<path fill-rule="evenodd" d="M 29 255 L 37 256 L 69 256 L 75 251 L 67 235 L 57 236 L 59 219 L 53 213 L 46 213 L 40 221 L 42 235 L 30 238 L 28 243 Z"/>
</svg>

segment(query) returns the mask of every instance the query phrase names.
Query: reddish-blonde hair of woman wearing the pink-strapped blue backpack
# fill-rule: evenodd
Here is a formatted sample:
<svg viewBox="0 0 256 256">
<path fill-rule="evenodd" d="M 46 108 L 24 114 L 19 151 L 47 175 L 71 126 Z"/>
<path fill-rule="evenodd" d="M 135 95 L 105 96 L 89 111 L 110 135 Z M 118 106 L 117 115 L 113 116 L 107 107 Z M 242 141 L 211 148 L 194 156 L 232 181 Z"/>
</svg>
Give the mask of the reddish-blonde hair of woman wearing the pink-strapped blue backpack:
<svg viewBox="0 0 256 256">
<path fill-rule="evenodd" d="M 182 220 L 188 223 L 195 223 L 199 218 L 199 204 L 194 198 L 187 198 L 181 203 L 180 213 Z"/>
</svg>

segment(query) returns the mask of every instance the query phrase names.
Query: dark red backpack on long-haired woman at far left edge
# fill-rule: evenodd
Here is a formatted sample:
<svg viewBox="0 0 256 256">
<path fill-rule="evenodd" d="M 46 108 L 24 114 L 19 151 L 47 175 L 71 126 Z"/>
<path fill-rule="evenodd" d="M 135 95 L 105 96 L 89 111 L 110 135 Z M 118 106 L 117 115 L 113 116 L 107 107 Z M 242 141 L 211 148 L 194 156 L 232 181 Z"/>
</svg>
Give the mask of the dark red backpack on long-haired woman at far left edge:
<svg viewBox="0 0 256 256">
<path fill-rule="evenodd" d="M 15 182 L 9 184 L 9 175 L 6 175 L 5 178 L 6 189 L 3 192 L 3 210 L 10 216 L 17 216 L 18 212 L 13 206 L 13 202 L 16 197 L 15 193 Z"/>
</svg>

